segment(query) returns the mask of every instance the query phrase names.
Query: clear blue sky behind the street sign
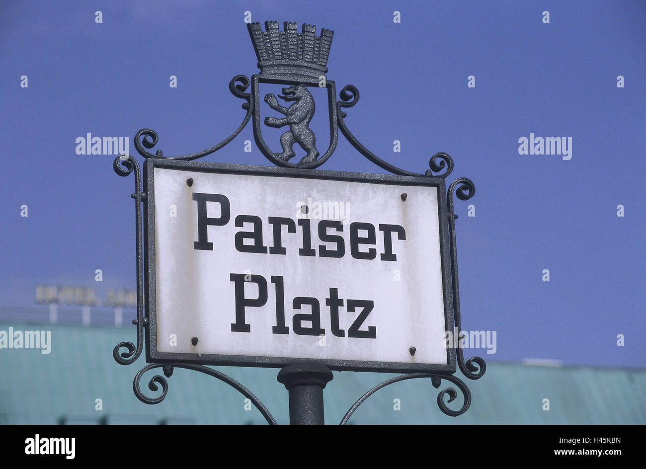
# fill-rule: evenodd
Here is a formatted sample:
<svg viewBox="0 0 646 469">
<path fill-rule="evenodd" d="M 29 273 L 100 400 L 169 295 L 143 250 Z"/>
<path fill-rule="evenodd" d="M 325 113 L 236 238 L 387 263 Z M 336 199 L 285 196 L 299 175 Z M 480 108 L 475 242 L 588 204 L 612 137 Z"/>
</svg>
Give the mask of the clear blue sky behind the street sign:
<svg viewBox="0 0 646 469">
<path fill-rule="evenodd" d="M 258 72 L 245 11 L 334 30 L 328 79 L 361 96 L 351 132 L 410 171 L 446 152 L 447 183 L 475 182 L 455 203 L 457 247 L 463 329 L 497 331 L 486 360 L 646 366 L 637 1 L 2 2 L 0 306 L 34 305 L 39 283 L 93 286 L 96 269 L 101 287 L 134 288 L 134 178 L 76 154 L 76 138 L 128 137 L 134 155 L 143 127 L 164 154 L 228 136 L 244 117 L 229 80 Z M 530 133 L 572 138 L 572 158 L 519 154 Z M 205 160 L 269 165 L 245 140 L 251 125 Z M 342 136 L 322 169 L 384 172 Z"/>
</svg>

